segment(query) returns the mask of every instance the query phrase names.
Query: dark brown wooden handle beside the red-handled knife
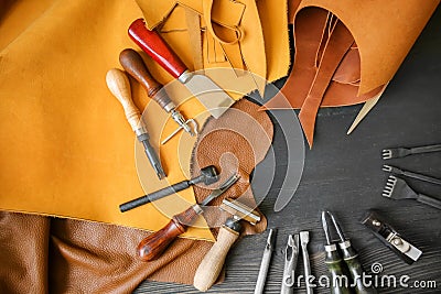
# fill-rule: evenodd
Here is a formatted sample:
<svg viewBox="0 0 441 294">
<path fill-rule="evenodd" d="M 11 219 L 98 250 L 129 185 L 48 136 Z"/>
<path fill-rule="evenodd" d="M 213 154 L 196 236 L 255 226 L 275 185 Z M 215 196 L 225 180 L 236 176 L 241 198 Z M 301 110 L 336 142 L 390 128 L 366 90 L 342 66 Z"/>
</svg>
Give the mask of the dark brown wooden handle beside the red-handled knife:
<svg viewBox="0 0 441 294">
<path fill-rule="evenodd" d="M 123 50 L 119 54 L 119 62 L 123 69 L 144 87 L 147 95 L 151 99 L 157 101 L 166 111 L 170 111 L 169 104 L 172 104 L 172 100 L 164 90 L 161 91 L 162 85 L 151 76 L 138 52 L 132 48 Z"/>
</svg>

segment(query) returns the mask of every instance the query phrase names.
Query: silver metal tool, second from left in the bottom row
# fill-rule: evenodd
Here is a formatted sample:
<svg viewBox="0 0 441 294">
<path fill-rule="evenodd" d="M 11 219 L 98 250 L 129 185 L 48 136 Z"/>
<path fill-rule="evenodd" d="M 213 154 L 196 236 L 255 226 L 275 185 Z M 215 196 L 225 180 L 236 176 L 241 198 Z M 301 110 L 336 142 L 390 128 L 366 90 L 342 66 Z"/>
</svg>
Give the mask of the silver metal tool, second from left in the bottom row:
<svg viewBox="0 0 441 294">
<path fill-rule="evenodd" d="M 295 266 L 299 258 L 299 235 L 289 235 L 284 250 L 283 279 L 280 294 L 292 294 L 294 292 Z"/>
</svg>

